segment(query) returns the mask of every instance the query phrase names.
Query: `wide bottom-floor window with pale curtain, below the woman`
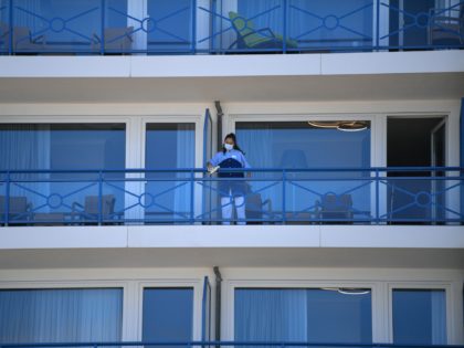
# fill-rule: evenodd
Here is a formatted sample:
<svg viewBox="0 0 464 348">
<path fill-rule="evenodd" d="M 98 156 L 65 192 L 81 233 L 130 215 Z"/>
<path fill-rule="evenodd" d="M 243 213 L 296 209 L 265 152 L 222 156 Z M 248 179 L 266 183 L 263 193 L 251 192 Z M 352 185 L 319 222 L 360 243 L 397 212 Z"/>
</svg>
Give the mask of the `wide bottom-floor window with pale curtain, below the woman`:
<svg viewBox="0 0 464 348">
<path fill-rule="evenodd" d="M 366 288 L 236 288 L 235 339 L 372 341 Z"/>
</svg>

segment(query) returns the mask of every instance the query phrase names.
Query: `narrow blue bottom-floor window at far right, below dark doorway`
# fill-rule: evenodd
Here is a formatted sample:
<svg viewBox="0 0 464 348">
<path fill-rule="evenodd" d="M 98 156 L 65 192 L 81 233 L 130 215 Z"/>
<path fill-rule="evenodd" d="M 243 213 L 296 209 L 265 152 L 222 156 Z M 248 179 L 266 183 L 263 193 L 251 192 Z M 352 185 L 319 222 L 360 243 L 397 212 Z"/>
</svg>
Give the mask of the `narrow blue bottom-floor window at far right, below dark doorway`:
<svg viewBox="0 0 464 348">
<path fill-rule="evenodd" d="M 444 289 L 393 289 L 393 341 L 409 345 L 446 344 Z"/>
</svg>

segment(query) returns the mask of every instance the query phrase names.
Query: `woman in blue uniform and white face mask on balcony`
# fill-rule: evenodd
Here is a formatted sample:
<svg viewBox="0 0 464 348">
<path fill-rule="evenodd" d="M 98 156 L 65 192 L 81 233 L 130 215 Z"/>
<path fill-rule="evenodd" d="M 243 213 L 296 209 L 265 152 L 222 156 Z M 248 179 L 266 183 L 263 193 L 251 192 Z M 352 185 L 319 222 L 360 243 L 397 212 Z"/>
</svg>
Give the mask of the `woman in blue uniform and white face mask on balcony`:
<svg viewBox="0 0 464 348">
<path fill-rule="evenodd" d="M 210 173 L 218 169 L 251 168 L 246 161 L 245 154 L 236 144 L 236 137 L 233 133 L 228 134 L 222 145 L 222 151 L 214 155 L 208 162 Z M 232 208 L 235 205 L 238 224 L 245 224 L 245 181 L 243 171 L 219 171 L 219 178 L 222 178 L 218 184 L 218 191 L 221 196 L 222 224 L 230 224 L 232 220 Z M 231 178 L 231 180 L 226 180 Z"/>
</svg>

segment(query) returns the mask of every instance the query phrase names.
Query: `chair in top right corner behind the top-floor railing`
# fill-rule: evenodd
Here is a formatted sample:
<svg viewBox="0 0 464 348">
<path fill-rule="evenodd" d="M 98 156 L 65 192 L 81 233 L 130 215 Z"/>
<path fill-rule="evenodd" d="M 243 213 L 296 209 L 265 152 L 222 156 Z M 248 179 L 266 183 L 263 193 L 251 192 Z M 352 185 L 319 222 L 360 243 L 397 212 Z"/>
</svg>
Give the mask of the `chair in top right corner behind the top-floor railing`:
<svg viewBox="0 0 464 348">
<path fill-rule="evenodd" d="M 436 13 L 436 15 L 435 15 Z M 456 9 L 431 9 L 429 22 L 430 45 L 464 44 L 464 6 Z M 451 15 L 455 14 L 455 15 Z"/>
</svg>

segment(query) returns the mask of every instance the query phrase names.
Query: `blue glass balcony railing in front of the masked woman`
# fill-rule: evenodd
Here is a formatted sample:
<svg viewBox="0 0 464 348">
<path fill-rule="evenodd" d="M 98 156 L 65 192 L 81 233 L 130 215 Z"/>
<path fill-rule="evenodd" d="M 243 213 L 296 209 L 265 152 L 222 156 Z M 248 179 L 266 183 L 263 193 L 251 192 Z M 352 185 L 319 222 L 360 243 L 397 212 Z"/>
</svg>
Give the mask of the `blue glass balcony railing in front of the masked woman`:
<svg viewBox="0 0 464 348">
<path fill-rule="evenodd" d="M 204 169 L 2 171 L 0 223 L 458 225 L 464 222 L 463 171 L 450 167 L 229 169 L 220 170 L 220 176 Z"/>
</svg>

